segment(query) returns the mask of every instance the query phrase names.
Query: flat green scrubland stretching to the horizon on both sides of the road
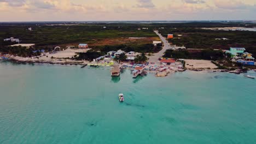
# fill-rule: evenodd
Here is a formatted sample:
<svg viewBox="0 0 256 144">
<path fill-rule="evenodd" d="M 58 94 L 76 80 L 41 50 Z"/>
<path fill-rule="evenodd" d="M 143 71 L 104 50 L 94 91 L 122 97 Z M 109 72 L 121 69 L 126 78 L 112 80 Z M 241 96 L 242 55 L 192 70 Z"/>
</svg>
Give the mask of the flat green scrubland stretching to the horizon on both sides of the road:
<svg viewBox="0 0 256 144">
<path fill-rule="evenodd" d="M 14 43 L 3 41 L 3 39 L 15 37 L 22 40 L 22 43 L 33 43 L 36 44 L 36 49 L 44 49 L 46 51 L 51 51 L 56 45 L 63 47 L 67 44 L 77 45 L 78 43 L 88 43 L 90 46 L 95 44 L 91 48 L 95 49 L 95 51 L 100 50 L 101 54 L 119 49 L 126 52 L 136 51 L 141 53 L 154 53 L 160 51 L 161 46 L 152 46 L 150 40 L 146 40 L 144 43 L 141 43 L 141 41 L 132 43 L 132 40 L 129 42 L 121 41 L 123 43 L 119 43 L 118 40 L 119 38 L 120 40 L 123 40 L 122 38 L 129 37 L 157 37 L 153 30 L 158 29 L 164 36 L 167 36 L 168 33 L 174 34 L 174 38 L 170 40 L 170 43 L 179 46 L 184 45 L 187 49 L 229 49 L 230 46 L 241 46 L 245 47 L 246 50 L 254 56 L 256 55 L 256 32 L 213 31 L 201 29 L 202 27 L 256 27 L 255 23 L 191 22 L 67 24 L 71 25 L 45 22 L 0 23 L 0 51 L 10 51 L 10 53 L 16 55 L 19 53 L 20 56 L 32 55 L 30 54 L 30 50 L 24 50 L 22 53 L 7 47 Z M 33 31 L 28 31 L 28 27 L 32 27 Z M 147 27 L 148 29 L 141 29 L 141 31 L 138 31 L 138 28 L 142 27 Z M 164 27 L 164 29 L 161 27 Z M 182 36 L 178 37 L 178 34 L 181 34 Z M 229 40 L 216 40 L 216 38 L 228 38 Z M 109 43 L 108 39 L 115 39 L 116 41 L 111 41 L 111 43 Z M 178 54 L 176 53 L 176 55 Z M 179 55 L 186 56 L 187 54 L 179 53 Z M 209 59 L 209 57 L 207 57 L 207 59 Z"/>
</svg>

